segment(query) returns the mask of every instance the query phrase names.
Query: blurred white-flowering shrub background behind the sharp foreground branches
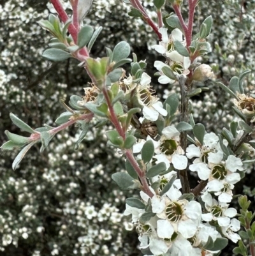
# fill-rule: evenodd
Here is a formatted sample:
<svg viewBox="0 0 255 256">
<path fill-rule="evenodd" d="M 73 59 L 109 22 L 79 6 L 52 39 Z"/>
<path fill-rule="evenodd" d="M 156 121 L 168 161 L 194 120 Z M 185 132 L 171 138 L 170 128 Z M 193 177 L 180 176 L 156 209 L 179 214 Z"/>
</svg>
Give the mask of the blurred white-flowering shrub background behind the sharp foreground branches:
<svg viewBox="0 0 255 256">
<path fill-rule="evenodd" d="M 143 5 L 156 20 L 152 0 Z M 92 56 L 104 56 L 105 47 L 113 49 L 126 40 L 139 60 L 147 59 L 147 73 L 153 77 L 155 59 L 163 60 L 150 50 L 157 43 L 156 35 L 142 20 L 129 18 L 128 8 L 119 0 L 94 1 L 84 23 L 103 26 L 103 31 Z M 72 94 L 83 95 L 89 82 L 76 60 L 50 63 L 41 57 L 50 34 L 36 22 L 47 19 L 51 11 L 47 0 L 0 0 L 0 144 L 6 141 L 4 130 L 25 135 L 11 123 L 10 112 L 33 128 L 44 123 L 55 126 L 54 120 L 64 111 L 59 100 L 68 102 Z M 164 14 L 171 11 L 167 4 Z M 194 32 L 208 15 L 214 19 L 209 37 L 212 52 L 199 61 L 212 66 L 215 79 L 197 85 L 210 91 L 192 98 L 193 115 L 207 132 L 221 132 L 237 117 L 230 96 L 215 81 L 227 86 L 233 75 L 249 68 L 245 88 L 254 93 L 255 1 L 201 1 Z M 179 91 L 159 85 L 155 78 L 153 87 L 161 98 Z M 0 256 L 140 255 L 133 225 L 122 216 L 124 201 L 133 192 L 120 191 L 110 178 L 124 170 L 124 159 L 106 146 L 106 129 L 91 128 L 75 151 L 79 131 L 72 126 L 55 136 L 47 151 L 40 153 L 40 146 L 33 147 L 15 172 L 11 163 L 17 151 L 1 152 Z M 244 190 L 254 202 L 255 174 L 252 169 L 249 172 L 235 193 Z M 197 179 L 192 176 L 191 180 L 194 187 Z M 237 207 L 236 202 L 233 205 Z M 231 255 L 231 248 L 230 243 L 222 255 Z"/>
</svg>

